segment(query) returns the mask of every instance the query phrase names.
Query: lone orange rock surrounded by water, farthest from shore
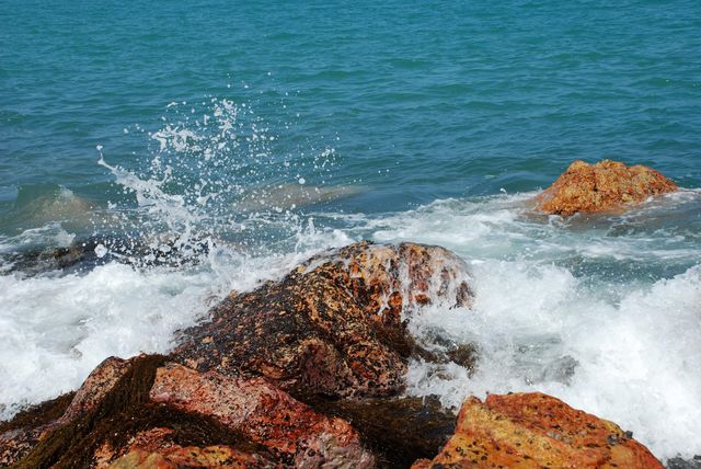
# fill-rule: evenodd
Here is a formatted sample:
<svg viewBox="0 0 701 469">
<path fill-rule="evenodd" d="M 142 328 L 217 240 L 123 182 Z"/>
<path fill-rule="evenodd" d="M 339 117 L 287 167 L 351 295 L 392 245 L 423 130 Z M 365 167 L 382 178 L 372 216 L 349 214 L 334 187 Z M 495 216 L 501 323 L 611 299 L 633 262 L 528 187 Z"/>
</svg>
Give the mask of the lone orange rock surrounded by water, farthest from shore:
<svg viewBox="0 0 701 469">
<path fill-rule="evenodd" d="M 677 185 L 663 174 L 640 164 L 627 167 L 611 160 L 596 164 L 575 161 L 537 197 L 537 202 L 539 210 L 568 216 L 577 211 L 618 209 L 677 190 Z"/>
</svg>

